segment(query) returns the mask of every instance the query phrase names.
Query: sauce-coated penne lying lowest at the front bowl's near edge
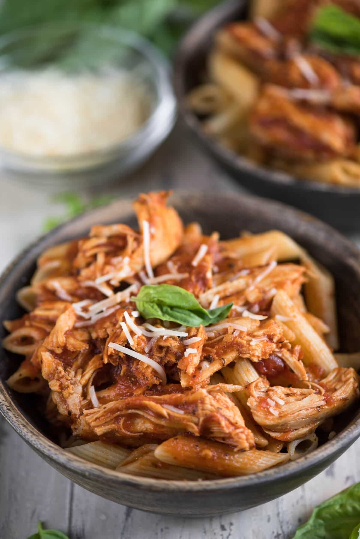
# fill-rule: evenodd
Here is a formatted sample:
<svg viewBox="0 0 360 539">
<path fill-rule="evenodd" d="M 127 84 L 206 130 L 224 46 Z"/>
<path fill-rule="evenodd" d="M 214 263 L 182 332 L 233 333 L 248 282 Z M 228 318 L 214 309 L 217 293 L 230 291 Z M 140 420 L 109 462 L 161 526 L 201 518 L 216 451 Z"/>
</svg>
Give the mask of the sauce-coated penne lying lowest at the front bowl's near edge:
<svg viewBox="0 0 360 539">
<path fill-rule="evenodd" d="M 261 472 L 289 459 L 287 453 L 252 449 L 236 452 L 201 438 L 176 436 L 155 450 L 155 457 L 176 466 L 200 469 L 223 477 Z"/>
</svg>

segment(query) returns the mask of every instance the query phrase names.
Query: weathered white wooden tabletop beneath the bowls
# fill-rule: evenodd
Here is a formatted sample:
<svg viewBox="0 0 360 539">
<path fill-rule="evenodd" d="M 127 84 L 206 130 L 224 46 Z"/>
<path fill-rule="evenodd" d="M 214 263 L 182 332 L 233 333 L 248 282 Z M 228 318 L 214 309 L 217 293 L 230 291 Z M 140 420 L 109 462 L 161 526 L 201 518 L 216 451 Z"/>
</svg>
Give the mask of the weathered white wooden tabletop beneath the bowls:
<svg viewBox="0 0 360 539">
<path fill-rule="evenodd" d="M 150 162 L 106 193 L 134 197 L 140 191 L 169 187 L 240 191 L 188 137 L 177 127 Z M 43 189 L 1 181 L 2 269 L 39 235 L 44 219 L 57 208 Z M 273 502 L 230 516 L 185 520 L 119 506 L 74 485 L 0 417 L 0 539 L 26 539 L 35 533 L 38 520 L 70 539 L 290 539 L 317 503 L 360 480 L 357 450 L 360 440 L 315 479 Z"/>
</svg>

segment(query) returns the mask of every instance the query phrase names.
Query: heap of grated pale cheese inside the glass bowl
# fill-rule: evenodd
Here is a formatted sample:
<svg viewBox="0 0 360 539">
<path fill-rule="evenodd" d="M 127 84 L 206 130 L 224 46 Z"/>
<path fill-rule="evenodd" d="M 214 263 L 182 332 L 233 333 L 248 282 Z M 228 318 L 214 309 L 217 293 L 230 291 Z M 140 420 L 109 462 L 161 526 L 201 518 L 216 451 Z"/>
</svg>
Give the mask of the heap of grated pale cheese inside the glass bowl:
<svg viewBox="0 0 360 539">
<path fill-rule="evenodd" d="M 146 87 L 132 71 L 2 71 L 0 145 L 42 157 L 92 155 L 119 144 L 149 113 Z"/>
</svg>

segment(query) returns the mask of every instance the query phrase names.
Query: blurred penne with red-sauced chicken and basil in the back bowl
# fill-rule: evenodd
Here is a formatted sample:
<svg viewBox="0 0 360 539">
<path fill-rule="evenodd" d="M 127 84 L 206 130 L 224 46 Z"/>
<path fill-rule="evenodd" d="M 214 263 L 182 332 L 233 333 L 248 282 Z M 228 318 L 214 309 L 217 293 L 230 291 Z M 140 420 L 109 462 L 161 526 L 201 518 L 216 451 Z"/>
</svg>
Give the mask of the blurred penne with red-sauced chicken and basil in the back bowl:
<svg viewBox="0 0 360 539">
<path fill-rule="evenodd" d="M 359 3 L 253 0 L 249 15 L 216 32 L 188 107 L 235 153 L 359 187 Z"/>
</svg>

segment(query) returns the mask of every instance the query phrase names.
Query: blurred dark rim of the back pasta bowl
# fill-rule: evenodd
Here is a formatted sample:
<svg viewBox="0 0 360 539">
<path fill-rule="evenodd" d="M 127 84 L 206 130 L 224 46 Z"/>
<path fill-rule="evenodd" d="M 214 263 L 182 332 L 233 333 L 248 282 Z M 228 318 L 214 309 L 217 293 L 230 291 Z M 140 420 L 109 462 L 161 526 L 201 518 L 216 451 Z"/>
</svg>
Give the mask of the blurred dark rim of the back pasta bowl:
<svg viewBox="0 0 360 539">
<path fill-rule="evenodd" d="M 221 146 L 221 144 L 206 135 L 196 114 L 187 107 L 185 69 L 189 51 L 194 50 L 194 44 L 199 44 L 198 34 L 203 35 L 203 31 L 208 31 L 209 29 L 210 33 L 213 34 L 220 19 L 221 21 L 228 20 L 228 22 L 236 20 L 236 14 L 246 8 L 246 6 L 247 0 L 226 0 L 226 2 L 216 5 L 199 17 L 199 19 L 189 27 L 188 31 L 180 40 L 178 47 L 176 47 L 173 61 L 173 86 L 178 100 L 178 110 L 182 119 L 184 119 L 186 126 L 195 133 L 203 146 L 209 148 L 220 162 L 225 163 L 229 167 L 236 168 L 239 172 L 256 174 L 262 181 L 273 184 L 274 188 L 279 185 L 286 185 L 287 187 L 294 187 L 296 189 L 307 191 L 309 195 L 313 191 L 318 191 L 320 193 L 328 192 L 337 196 L 360 195 L 360 188 L 300 179 L 288 172 L 263 167 L 241 154 L 236 154 L 234 151 Z"/>
</svg>

